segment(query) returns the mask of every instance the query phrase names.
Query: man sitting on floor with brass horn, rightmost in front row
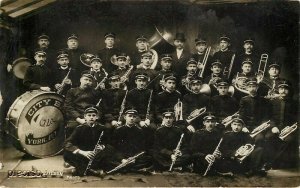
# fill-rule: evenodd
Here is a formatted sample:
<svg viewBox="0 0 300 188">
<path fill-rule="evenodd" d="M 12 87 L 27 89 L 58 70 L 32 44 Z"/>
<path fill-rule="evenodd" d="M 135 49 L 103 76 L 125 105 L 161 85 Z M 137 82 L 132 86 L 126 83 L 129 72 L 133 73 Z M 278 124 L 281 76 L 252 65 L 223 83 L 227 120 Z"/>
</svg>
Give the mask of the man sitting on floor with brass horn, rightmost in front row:
<svg viewBox="0 0 300 188">
<path fill-rule="evenodd" d="M 220 146 L 222 153 L 220 172 L 245 173 L 247 176 L 266 175 L 262 170 L 263 149 L 253 145 L 253 138 L 249 136 L 249 133 L 242 131 L 244 126 L 244 121 L 237 116 L 231 122 L 231 131 L 224 134 Z M 244 153 L 237 153 L 237 150 L 246 144 L 248 144 L 248 150 Z M 254 148 L 251 152 L 252 147 Z"/>
</svg>

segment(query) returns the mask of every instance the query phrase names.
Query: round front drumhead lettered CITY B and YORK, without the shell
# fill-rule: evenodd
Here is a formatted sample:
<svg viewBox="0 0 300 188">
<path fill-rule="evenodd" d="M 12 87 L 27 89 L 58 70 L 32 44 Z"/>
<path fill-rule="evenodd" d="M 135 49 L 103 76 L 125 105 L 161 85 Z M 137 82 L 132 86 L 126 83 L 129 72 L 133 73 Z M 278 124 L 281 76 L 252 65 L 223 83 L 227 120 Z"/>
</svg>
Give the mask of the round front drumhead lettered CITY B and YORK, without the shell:
<svg viewBox="0 0 300 188">
<path fill-rule="evenodd" d="M 65 140 L 62 96 L 40 92 L 23 108 L 17 121 L 20 145 L 38 158 L 58 154 Z"/>
</svg>

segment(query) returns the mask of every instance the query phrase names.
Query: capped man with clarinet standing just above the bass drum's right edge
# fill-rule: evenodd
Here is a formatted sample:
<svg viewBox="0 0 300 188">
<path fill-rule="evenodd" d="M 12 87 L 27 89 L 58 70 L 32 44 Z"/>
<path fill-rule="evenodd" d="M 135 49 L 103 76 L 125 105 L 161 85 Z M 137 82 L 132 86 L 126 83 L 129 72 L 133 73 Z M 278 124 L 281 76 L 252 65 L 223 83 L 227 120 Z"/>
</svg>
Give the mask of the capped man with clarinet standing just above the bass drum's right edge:
<svg viewBox="0 0 300 188">
<path fill-rule="evenodd" d="M 69 67 L 69 57 L 64 51 L 59 52 L 57 56 L 59 67 L 55 72 L 54 87 L 58 94 L 66 95 L 71 87 L 77 87 L 76 71 Z"/>
</svg>

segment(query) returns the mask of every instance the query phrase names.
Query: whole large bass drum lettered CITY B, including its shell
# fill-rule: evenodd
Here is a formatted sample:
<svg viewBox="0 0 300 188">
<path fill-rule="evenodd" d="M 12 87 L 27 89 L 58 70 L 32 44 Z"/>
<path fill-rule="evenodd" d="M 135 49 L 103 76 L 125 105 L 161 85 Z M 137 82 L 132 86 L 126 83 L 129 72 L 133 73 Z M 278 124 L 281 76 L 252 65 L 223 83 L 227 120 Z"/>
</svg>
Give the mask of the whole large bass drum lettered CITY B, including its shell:
<svg viewBox="0 0 300 188">
<path fill-rule="evenodd" d="M 6 118 L 6 132 L 14 146 L 37 158 L 61 152 L 65 140 L 63 103 L 61 95 L 40 90 L 18 97 Z"/>
</svg>

